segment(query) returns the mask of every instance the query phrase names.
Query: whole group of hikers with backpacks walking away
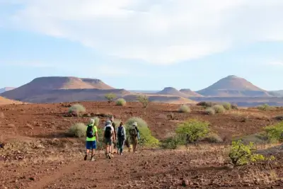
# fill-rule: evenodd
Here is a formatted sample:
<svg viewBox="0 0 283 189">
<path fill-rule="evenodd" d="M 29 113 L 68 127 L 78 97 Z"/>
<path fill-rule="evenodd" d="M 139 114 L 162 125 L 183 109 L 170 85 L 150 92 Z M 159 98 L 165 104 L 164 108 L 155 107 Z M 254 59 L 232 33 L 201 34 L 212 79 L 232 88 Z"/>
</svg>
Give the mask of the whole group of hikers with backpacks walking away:
<svg viewBox="0 0 283 189">
<path fill-rule="evenodd" d="M 105 144 L 105 156 L 108 159 L 112 159 L 113 150 L 117 149 L 117 154 L 123 155 L 123 149 L 126 145 L 129 149 L 130 143 L 132 143 L 134 153 L 137 153 L 137 145 L 139 142 L 139 129 L 137 122 L 133 122 L 129 125 L 129 137 L 127 137 L 126 128 L 123 122 L 120 122 L 117 127 L 114 122 L 114 118 L 110 118 L 105 122 L 103 128 L 103 142 Z M 94 161 L 94 152 L 98 144 L 98 128 L 95 125 L 95 120 L 90 119 L 86 126 L 86 155 L 84 160 L 88 159 L 88 154 L 91 151 L 91 161 Z"/>
</svg>

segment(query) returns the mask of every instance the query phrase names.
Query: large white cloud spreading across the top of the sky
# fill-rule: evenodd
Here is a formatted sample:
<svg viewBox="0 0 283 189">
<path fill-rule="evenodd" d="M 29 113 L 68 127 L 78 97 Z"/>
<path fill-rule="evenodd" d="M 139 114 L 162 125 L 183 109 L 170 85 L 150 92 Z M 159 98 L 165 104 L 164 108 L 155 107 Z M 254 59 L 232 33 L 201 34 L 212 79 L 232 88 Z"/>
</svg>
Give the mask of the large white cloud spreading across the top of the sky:
<svg viewBox="0 0 283 189">
<path fill-rule="evenodd" d="M 6 16 L 6 27 L 154 64 L 283 40 L 282 0 L 13 0 L 16 3 L 22 8 Z"/>
</svg>

